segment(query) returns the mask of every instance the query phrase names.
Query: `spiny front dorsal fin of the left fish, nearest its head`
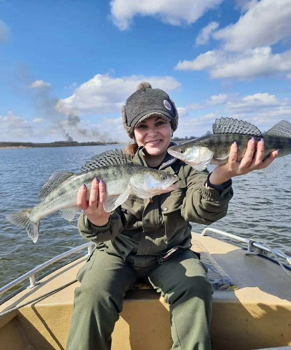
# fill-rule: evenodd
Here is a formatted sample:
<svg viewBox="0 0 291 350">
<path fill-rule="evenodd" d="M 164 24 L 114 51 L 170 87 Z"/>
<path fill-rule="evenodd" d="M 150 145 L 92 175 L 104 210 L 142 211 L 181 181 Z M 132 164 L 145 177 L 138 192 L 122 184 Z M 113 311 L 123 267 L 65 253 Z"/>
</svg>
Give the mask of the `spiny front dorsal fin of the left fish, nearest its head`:
<svg viewBox="0 0 291 350">
<path fill-rule="evenodd" d="M 82 166 L 82 172 L 88 172 L 96 168 L 104 167 L 106 165 L 125 164 L 127 163 L 126 155 L 121 149 L 112 149 L 110 151 L 96 154 Z"/>
</svg>

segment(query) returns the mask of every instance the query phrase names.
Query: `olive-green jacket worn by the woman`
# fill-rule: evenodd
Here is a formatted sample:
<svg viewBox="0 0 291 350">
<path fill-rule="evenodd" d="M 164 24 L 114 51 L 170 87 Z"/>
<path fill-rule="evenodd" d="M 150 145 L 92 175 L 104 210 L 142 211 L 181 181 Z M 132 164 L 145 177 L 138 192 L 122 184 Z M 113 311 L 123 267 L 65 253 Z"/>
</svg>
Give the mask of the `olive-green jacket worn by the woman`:
<svg viewBox="0 0 291 350">
<path fill-rule="evenodd" d="M 147 166 L 140 147 L 129 162 Z M 98 247 L 106 245 L 109 252 L 126 259 L 129 253 L 159 255 L 174 246 L 190 247 L 191 225 L 209 225 L 226 215 L 233 191 L 231 186 L 222 193 L 205 187 L 207 170 L 192 169 L 179 159 L 167 155 L 159 170 L 180 177 L 179 188 L 154 196 L 151 202 L 129 196 L 115 211 L 108 224 L 95 226 L 82 212 L 78 229 L 83 238 Z"/>
</svg>

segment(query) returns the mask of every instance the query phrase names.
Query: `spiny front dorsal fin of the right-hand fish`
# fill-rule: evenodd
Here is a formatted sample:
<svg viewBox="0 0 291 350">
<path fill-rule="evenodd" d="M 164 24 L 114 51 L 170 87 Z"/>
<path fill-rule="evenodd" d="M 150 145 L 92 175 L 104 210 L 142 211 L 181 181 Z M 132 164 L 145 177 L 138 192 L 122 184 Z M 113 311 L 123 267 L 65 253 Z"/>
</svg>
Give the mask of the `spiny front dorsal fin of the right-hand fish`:
<svg viewBox="0 0 291 350">
<path fill-rule="evenodd" d="M 262 136 L 262 132 L 255 125 L 232 118 L 216 119 L 213 124 L 213 133 Z"/>
</svg>

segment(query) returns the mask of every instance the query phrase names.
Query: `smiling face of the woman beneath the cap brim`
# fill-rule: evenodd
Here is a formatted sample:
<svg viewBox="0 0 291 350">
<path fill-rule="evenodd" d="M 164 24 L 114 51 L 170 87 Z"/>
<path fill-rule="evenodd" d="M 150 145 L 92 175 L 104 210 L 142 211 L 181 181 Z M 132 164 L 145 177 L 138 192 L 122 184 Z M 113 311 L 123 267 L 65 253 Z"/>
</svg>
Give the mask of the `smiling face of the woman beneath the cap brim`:
<svg viewBox="0 0 291 350">
<path fill-rule="evenodd" d="M 162 155 L 167 151 L 172 137 L 172 128 L 168 120 L 152 116 L 138 123 L 134 128 L 138 146 L 151 156 Z"/>
</svg>

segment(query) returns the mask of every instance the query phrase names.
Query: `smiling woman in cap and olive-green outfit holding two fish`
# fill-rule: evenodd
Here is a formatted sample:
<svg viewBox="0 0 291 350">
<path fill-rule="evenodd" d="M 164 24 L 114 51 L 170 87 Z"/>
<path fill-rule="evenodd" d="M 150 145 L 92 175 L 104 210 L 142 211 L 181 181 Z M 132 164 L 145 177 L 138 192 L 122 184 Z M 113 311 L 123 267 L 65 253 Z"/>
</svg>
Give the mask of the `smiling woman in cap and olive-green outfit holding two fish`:
<svg viewBox="0 0 291 350">
<path fill-rule="evenodd" d="M 130 196 L 114 212 L 103 210 L 105 187 L 94 179 L 89 202 L 80 188 L 80 234 L 97 245 L 80 269 L 67 350 L 108 350 L 111 333 L 122 310 L 126 291 L 147 279 L 169 303 L 172 350 L 210 349 L 209 327 L 213 288 L 206 268 L 190 250 L 191 225 L 209 225 L 226 215 L 233 195 L 231 177 L 266 167 L 263 140 L 255 149 L 250 140 L 243 160 L 237 146 L 229 161 L 208 176 L 167 153 L 178 125 L 175 104 L 167 93 L 141 83 L 122 108 L 124 127 L 133 143 L 128 161 L 177 174 L 179 189 L 141 200 Z M 137 320 L 138 322 L 138 320 Z"/>
</svg>

